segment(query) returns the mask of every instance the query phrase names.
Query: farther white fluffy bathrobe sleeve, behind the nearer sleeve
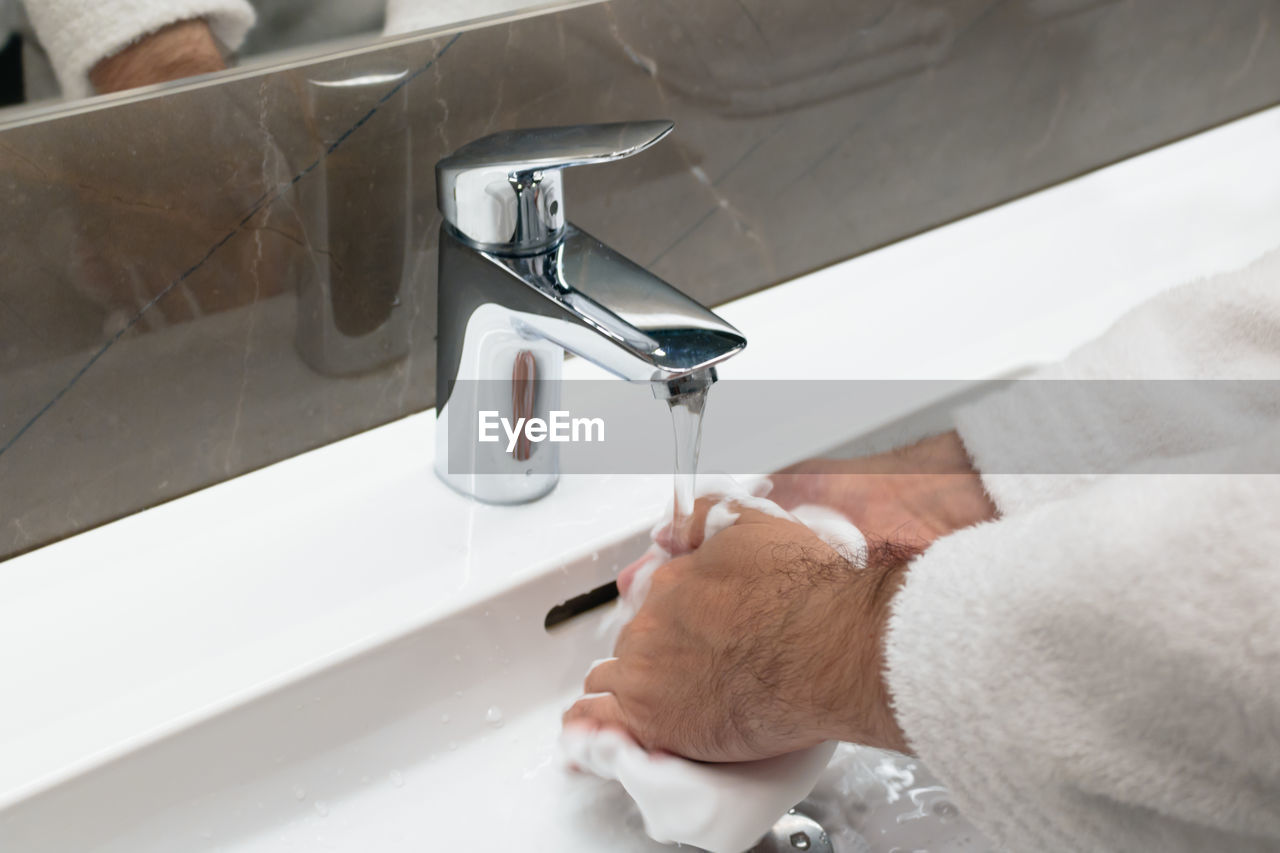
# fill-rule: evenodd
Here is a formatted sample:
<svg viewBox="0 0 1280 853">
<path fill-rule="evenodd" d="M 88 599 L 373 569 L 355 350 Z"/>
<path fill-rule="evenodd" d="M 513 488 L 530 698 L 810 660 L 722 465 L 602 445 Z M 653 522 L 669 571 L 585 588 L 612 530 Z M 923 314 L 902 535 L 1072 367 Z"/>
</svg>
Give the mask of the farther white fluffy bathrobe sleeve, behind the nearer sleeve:
<svg viewBox="0 0 1280 853">
<path fill-rule="evenodd" d="M 1032 379 L 955 421 L 1006 516 L 1147 459 L 1249 441 L 1280 421 L 1275 384 L 1096 380 L 1280 380 L 1280 251 L 1157 296 Z"/>
</svg>

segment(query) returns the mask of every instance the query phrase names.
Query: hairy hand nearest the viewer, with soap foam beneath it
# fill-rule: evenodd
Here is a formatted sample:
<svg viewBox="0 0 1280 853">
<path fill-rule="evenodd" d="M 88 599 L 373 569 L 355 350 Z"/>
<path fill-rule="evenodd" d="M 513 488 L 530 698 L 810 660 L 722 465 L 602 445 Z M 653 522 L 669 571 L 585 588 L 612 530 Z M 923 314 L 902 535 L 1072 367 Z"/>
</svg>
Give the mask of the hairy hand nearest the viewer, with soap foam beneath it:
<svg viewBox="0 0 1280 853">
<path fill-rule="evenodd" d="M 712 503 L 699 501 L 694 530 Z M 617 657 L 591 670 L 566 725 L 617 727 L 700 761 L 833 739 L 905 751 L 882 638 L 908 555 L 872 548 L 855 567 L 797 521 L 735 511 L 730 528 L 654 573 Z"/>
</svg>

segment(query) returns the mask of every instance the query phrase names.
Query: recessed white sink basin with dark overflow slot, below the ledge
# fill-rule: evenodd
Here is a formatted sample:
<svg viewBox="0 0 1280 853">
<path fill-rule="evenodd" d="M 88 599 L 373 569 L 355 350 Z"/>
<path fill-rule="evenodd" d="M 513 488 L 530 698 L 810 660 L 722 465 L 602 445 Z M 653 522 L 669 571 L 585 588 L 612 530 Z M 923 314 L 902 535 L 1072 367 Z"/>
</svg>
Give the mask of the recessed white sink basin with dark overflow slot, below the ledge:
<svg viewBox="0 0 1280 853">
<path fill-rule="evenodd" d="M 0 847 L 666 849 L 617 784 L 554 756 L 561 712 L 608 652 L 600 622 L 612 605 L 549 630 L 541 617 L 611 581 L 644 544 L 579 555 L 31 797 L 0 816 Z M 801 808 L 822 816 L 837 853 L 980 849 L 938 783 L 901 756 L 844 748 Z"/>
</svg>

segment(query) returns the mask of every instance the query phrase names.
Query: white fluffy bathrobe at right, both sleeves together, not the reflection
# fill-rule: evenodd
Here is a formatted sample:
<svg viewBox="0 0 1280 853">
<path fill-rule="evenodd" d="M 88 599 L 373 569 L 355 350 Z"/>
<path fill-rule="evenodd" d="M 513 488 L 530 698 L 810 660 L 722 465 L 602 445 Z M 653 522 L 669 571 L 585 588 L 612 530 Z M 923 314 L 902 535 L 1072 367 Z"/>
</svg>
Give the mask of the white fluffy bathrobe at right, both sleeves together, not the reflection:
<svg viewBox="0 0 1280 853">
<path fill-rule="evenodd" d="M 1280 254 L 1046 374 L 1280 378 Z M 1170 419 L 1169 397 L 1036 382 L 959 418 L 1002 517 L 911 565 L 887 680 L 1005 849 L 1280 850 L 1280 394 L 1243 384 L 1185 383 L 1206 396 Z M 991 473 L 1044 460 L 1064 473 Z"/>
</svg>

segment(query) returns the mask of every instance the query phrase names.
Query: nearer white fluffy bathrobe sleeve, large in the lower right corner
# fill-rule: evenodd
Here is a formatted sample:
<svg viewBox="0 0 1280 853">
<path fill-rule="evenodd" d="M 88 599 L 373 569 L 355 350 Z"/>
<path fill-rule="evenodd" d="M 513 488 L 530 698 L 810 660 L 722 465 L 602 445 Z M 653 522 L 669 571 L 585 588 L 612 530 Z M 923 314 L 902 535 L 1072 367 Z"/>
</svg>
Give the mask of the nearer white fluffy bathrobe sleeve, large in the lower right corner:
<svg viewBox="0 0 1280 853">
<path fill-rule="evenodd" d="M 888 688 L 1002 849 L 1280 850 L 1277 605 L 1280 475 L 1117 475 L 938 539 Z"/>
</svg>

